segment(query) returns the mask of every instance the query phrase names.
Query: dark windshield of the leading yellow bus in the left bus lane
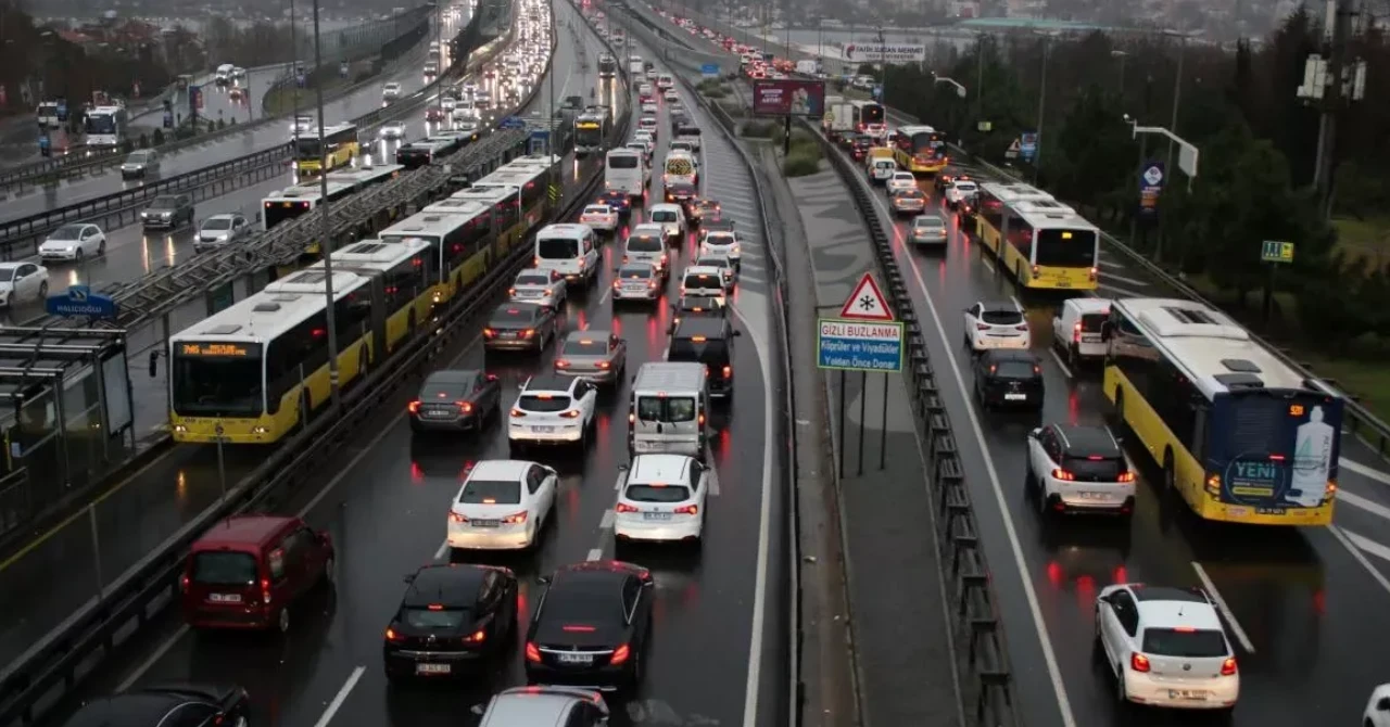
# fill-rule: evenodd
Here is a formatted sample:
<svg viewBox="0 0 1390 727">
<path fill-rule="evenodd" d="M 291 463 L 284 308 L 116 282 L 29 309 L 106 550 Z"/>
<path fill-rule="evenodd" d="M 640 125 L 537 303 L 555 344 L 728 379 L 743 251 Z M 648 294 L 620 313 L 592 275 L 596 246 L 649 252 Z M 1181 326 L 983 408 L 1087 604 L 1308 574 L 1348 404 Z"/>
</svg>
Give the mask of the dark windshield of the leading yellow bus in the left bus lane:
<svg viewBox="0 0 1390 727">
<path fill-rule="evenodd" d="M 175 353 L 174 411 L 196 417 L 259 417 L 264 409 L 260 346 L 239 348 L 249 349 L 252 356 Z"/>
</svg>

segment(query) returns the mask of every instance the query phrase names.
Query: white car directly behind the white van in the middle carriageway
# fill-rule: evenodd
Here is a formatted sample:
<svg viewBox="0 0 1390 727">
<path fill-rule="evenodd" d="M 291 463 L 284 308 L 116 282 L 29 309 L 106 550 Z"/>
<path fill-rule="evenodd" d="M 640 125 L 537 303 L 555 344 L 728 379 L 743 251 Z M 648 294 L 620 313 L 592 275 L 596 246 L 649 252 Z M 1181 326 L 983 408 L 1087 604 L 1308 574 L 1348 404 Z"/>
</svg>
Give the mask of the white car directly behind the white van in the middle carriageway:
<svg viewBox="0 0 1390 727">
<path fill-rule="evenodd" d="M 613 507 L 617 539 L 699 542 L 709 496 L 703 464 L 684 455 L 638 455 L 623 474 Z"/>
</svg>

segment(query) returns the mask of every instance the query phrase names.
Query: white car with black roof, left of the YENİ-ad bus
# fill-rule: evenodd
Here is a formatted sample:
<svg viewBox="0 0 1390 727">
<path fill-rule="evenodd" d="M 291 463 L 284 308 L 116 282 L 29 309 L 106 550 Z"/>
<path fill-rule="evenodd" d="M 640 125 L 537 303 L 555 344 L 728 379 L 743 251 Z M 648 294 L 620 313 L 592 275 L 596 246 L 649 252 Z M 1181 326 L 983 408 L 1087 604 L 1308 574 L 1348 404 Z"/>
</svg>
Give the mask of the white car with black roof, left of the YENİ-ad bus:
<svg viewBox="0 0 1390 727">
<path fill-rule="evenodd" d="M 1134 512 L 1134 473 L 1106 427 L 1048 424 L 1030 431 L 1026 482 L 1044 516 Z"/>
</svg>

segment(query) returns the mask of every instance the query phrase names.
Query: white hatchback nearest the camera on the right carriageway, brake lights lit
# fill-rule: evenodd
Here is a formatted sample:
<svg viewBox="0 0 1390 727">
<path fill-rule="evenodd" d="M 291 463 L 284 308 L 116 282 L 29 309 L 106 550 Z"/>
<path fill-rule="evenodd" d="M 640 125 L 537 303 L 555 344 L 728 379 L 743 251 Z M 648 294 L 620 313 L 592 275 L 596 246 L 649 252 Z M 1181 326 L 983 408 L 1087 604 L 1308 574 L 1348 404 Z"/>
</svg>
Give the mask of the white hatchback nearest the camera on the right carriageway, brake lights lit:
<svg viewBox="0 0 1390 727">
<path fill-rule="evenodd" d="M 1236 655 L 1204 591 L 1108 585 L 1095 599 L 1095 639 L 1122 703 L 1230 710 L 1240 698 Z"/>
</svg>

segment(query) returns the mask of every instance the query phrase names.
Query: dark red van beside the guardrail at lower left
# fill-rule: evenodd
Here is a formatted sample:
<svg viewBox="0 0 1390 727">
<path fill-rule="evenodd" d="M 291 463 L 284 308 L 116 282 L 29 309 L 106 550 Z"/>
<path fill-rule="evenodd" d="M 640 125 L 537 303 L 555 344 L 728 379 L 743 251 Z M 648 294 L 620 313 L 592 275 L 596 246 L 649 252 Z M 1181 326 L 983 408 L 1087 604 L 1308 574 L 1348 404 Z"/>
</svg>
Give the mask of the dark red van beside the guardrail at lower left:
<svg viewBox="0 0 1390 727">
<path fill-rule="evenodd" d="M 289 630 L 289 607 L 334 577 L 334 542 L 297 517 L 229 517 L 197 539 L 183 570 L 193 628 Z"/>
</svg>

